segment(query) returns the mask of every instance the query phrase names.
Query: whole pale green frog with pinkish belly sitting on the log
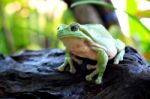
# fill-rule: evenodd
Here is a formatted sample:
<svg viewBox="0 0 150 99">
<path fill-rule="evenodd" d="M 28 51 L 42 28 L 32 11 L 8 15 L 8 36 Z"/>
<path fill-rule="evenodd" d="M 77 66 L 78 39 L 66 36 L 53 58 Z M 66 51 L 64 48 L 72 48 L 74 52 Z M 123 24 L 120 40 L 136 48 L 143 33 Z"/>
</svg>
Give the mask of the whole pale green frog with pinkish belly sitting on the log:
<svg viewBox="0 0 150 99">
<path fill-rule="evenodd" d="M 87 66 L 87 69 L 95 70 L 86 76 L 86 80 L 90 81 L 98 75 L 97 84 L 102 81 L 108 60 L 115 58 L 114 64 L 118 64 L 123 60 L 125 53 L 125 44 L 119 39 L 114 39 L 100 24 L 62 24 L 58 27 L 58 38 L 66 46 L 66 58 L 58 70 L 64 71 L 69 63 L 70 72 L 75 73 L 76 70 L 71 60 L 77 60 L 74 56 L 97 60 L 96 66 Z"/>
</svg>

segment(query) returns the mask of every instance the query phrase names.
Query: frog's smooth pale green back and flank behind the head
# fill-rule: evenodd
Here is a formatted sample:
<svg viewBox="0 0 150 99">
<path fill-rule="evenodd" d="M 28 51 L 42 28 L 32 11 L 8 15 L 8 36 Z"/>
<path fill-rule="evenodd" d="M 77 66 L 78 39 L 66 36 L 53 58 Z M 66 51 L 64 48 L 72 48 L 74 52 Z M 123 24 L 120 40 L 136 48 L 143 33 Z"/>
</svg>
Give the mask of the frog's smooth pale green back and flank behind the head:
<svg viewBox="0 0 150 99">
<path fill-rule="evenodd" d="M 105 27 L 103 27 L 101 24 L 88 24 L 81 25 L 81 28 L 86 35 L 92 38 L 94 42 L 105 48 L 106 52 L 110 56 L 110 59 L 116 55 L 117 49 L 115 39 L 110 35 Z"/>
</svg>

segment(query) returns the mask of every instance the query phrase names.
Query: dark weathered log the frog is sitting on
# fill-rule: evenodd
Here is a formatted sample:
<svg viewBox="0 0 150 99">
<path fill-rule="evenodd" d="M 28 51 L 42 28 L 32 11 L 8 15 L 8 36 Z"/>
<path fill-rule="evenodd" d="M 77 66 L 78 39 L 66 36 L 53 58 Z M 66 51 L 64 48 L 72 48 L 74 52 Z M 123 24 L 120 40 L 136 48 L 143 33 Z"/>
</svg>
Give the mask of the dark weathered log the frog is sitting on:
<svg viewBox="0 0 150 99">
<path fill-rule="evenodd" d="M 87 64 L 83 59 L 77 73 L 57 72 L 64 61 L 60 49 L 23 51 L 0 55 L 0 97 L 3 99 L 150 99 L 150 69 L 144 58 L 133 48 L 126 47 L 124 60 L 113 64 L 110 60 L 103 83 L 87 82 Z"/>
</svg>

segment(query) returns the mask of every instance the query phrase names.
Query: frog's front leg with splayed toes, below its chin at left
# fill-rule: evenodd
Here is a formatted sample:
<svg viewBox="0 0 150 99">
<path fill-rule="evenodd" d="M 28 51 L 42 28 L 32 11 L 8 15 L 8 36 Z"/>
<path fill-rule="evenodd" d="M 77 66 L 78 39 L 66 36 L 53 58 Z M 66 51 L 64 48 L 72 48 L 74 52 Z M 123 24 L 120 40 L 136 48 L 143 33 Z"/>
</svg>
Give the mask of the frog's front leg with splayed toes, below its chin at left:
<svg viewBox="0 0 150 99">
<path fill-rule="evenodd" d="M 61 71 L 61 72 L 64 71 L 64 69 L 66 68 L 66 66 L 67 66 L 68 63 L 69 63 L 69 66 L 70 66 L 69 72 L 72 73 L 72 74 L 74 74 L 76 72 L 76 69 L 73 66 L 72 59 L 71 59 L 69 51 L 66 50 L 66 57 L 65 57 L 64 63 L 61 66 L 59 66 L 57 68 L 57 70 Z"/>
</svg>

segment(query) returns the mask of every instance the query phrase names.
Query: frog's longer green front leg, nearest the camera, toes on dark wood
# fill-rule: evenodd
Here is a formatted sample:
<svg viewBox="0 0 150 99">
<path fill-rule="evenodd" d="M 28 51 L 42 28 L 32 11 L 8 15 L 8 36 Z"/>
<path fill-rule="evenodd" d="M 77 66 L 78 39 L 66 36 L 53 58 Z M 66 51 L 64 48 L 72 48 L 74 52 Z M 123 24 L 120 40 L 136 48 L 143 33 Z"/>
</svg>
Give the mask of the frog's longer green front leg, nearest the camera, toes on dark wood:
<svg viewBox="0 0 150 99">
<path fill-rule="evenodd" d="M 108 62 L 108 55 L 104 49 L 97 49 L 97 65 L 96 69 L 89 75 L 86 76 L 86 80 L 92 80 L 92 78 L 98 74 L 96 79 L 96 84 L 100 84 L 102 81 L 103 73 L 105 71 Z"/>
</svg>

